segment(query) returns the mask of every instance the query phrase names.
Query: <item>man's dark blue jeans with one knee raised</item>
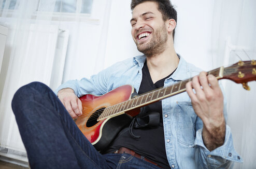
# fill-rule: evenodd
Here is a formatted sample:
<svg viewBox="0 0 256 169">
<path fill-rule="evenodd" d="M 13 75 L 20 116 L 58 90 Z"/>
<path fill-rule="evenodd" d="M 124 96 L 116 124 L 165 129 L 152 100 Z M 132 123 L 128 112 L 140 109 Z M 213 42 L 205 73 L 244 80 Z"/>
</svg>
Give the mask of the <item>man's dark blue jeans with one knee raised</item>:
<svg viewBox="0 0 256 169">
<path fill-rule="evenodd" d="M 159 168 L 129 154 L 100 154 L 43 83 L 21 87 L 11 106 L 31 168 Z"/>
</svg>

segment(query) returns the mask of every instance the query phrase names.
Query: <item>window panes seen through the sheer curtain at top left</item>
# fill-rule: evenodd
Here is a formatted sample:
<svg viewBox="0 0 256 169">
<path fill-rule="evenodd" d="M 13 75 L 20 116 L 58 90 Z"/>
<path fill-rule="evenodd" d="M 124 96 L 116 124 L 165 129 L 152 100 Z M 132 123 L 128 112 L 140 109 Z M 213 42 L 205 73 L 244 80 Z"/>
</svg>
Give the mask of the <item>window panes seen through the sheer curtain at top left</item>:
<svg viewBox="0 0 256 169">
<path fill-rule="evenodd" d="M 38 0 L 38 6 L 36 11 L 38 11 L 40 1 L 44 0 Z M 3 0 L 1 9 L 8 8 L 10 10 L 14 10 L 16 6 L 19 6 L 19 4 L 16 4 L 18 2 L 17 0 Z M 92 3 L 93 0 L 56 0 L 54 12 L 90 14 L 92 9 Z"/>
</svg>

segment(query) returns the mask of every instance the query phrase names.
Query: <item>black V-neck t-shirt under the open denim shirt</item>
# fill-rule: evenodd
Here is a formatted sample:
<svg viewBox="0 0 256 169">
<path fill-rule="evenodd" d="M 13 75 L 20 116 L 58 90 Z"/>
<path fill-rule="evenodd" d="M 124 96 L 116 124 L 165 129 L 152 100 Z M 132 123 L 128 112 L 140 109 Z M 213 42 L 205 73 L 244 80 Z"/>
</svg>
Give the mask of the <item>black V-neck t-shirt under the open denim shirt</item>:
<svg viewBox="0 0 256 169">
<path fill-rule="evenodd" d="M 143 69 L 143 78 L 139 87 L 138 94 L 143 94 L 154 89 L 164 86 L 164 80 L 169 76 L 153 83 L 150 73 L 148 70 L 147 63 L 145 62 Z M 165 142 L 164 142 L 164 129 L 163 129 L 163 117 L 162 117 L 162 102 L 156 102 L 147 105 L 143 108 L 143 112 L 156 111 L 160 113 L 160 123 L 158 126 L 154 127 L 144 127 L 144 128 L 133 128 L 132 132 L 135 136 L 140 136 L 140 138 L 133 138 L 129 131 L 122 133 L 118 136 L 115 141 L 113 141 L 107 150 L 107 153 L 112 153 L 119 149 L 120 147 L 126 147 L 134 150 L 137 154 L 146 157 L 147 159 L 157 163 L 163 168 L 170 168 L 167 161 L 165 152 Z"/>
</svg>

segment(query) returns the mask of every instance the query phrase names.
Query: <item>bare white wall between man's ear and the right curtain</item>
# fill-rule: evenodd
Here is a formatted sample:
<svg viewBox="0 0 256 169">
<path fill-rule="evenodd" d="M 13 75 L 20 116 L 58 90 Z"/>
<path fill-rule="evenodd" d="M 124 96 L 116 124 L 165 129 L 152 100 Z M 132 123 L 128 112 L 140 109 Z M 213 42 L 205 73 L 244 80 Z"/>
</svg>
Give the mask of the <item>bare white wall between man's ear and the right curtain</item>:
<svg viewBox="0 0 256 169">
<path fill-rule="evenodd" d="M 213 69 L 211 31 L 214 1 L 173 0 L 178 13 L 176 52 L 205 71 Z"/>
</svg>

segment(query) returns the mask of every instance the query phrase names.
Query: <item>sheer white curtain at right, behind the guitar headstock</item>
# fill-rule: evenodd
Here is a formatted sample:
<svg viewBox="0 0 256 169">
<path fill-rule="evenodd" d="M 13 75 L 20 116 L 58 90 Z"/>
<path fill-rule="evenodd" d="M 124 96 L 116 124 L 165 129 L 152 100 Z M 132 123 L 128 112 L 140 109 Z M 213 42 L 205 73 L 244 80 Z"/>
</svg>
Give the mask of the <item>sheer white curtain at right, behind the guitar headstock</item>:
<svg viewBox="0 0 256 169">
<path fill-rule="evenodd" d="M 214 67 L 239 60 L 256 60 L 256 1 L 217 0 L 212 21 Z M 255 168 L 256 151 L 256 82 L 250 91 L 229 80 L 223 82 L 228 101 L 227 124 L 232 129 L 234 145 L 244 163 L 234 168 Z"/>
</svg>

